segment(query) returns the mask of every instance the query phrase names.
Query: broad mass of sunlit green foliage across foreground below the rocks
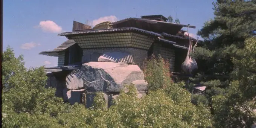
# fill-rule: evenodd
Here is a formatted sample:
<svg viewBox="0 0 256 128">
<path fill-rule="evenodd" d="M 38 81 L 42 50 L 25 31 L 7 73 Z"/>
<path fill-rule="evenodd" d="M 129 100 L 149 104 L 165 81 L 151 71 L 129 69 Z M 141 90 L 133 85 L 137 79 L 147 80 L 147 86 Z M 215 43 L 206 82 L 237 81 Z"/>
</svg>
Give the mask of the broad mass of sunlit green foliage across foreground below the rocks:
<svg viewBox="0 0 256 128">
<path fill-rule="evenodd" d="M 127 90 L 123 90 L 108 109 L 103 93 L 96 94 L 93 107 L 90 109 L 86 109 L 81 104 L 65 104 L 61 98 L 55 97 L 55 89 L 44 88 L 46 84 L 44 67 L 24 70 L 23 75 L 19 76 L 21 78 L 15 76 L 11 81 L 14 86 L 3 93 L 2 106 L 5 114 L 2 118 L 2 126 L 4 128 L 211 127 L 212 116 L 209 109 L 204 105 L 195 106 L 190 102 L 190 93 L 182 88 L 183 82 L 173 83 L 170 77 L 165 77 L 165 73 L 169 73 L 169 67 L 164 66 L 162 58 L 155 64 L 157 66 L 148 71 L 147 77 L 157 78 L 152 75 L 162 75 L 160 82 L 164 83 L 164 86 L 158 83 L 160 88 L 150 90 L 146 96 L 139 99 L 135 86 L 127 85 Z M 17 81 L 20 79 L 23 81 Z"/>
</svg>

